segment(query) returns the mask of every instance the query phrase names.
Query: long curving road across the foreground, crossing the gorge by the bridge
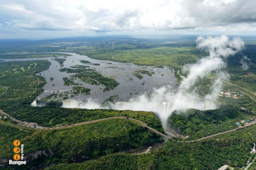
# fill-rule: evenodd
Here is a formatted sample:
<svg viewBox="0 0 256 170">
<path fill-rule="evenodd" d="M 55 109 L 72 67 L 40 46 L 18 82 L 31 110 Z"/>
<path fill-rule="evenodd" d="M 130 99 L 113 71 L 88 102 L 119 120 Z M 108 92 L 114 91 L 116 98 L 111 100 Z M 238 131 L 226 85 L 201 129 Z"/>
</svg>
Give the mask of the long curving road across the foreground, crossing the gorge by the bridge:
<svg viewBox="0 0 256 170">
<path fill-rule="evenodd" d="M 22 122 L 20 120 L 17 120 L 17 119 L 14 119 L 12 118 L 10 115 L 4 113 L 2 110 L 0 110 L 0 113 L 2 113 L 3 115 L 7 116 L 7 117 L 10 117 L 13 121 L 16 121 L 18 123 L 28 123 L 29 122 Z M 81 125 L 85 125 L 85 124 L 91 124 L 91 123 L 96 123 L 96 122 L 102 122 L 102 121 L 107 121 L 107 120 L 111 120 L 111 119 L 126 119 L 126 120 L 132 120 L 132 121 L 135 121 L 135 122 L 139 122 L 142 126 L 145 126 L 146 128 L 154 131 L 156 134 L 159 134 L 160 136 L 162 137 L 166 137 L 167 139 L 171 139 L 171 137 L 168 137 L 166 135 L 164 135 L 163 133 L 147 126 L 145 123 L 137 120 L 137 119 L 133 119 L 133 118 L 129 118 L 127 119 L 126 117 L 124 116 L 114 116 L 114 117 L 108 117 L 108 118 L 103 118 L 103 119 L 98 119 L 98 120 L 92 120 L 92 121 L 87 121 L 87 122 L 81 122 L 81 123 L 76 123 L 76 124 L 72 124 L 72 125 L 66 125 L 66 126 L 59 126 L 59 127 L 54 127 L 54 128 L 48 128 L 48 127 L 43 127 L 43 126 L 38 126 L 36 123 L 36 127 L 38 127 L 39 130 L 45 130 L 45 129 L 48 129 L 48 130 L 54 130 L 54 129 L 66 129 L 66 128 L 72 128 L 72 127 L 76 127 L 76 126 L 81 126 Z M 248 126 L 254 126 L 256 124 L 256 121 L 252 121 L 251 123 L 248 123 L 248 124 L 245 124 L 243 127 L 239 128 L 239 129 L 244 129 Z M 227 130 L 227 131 L 224 131 L 224 132 L 220 132 L 220 133 L 216 133 L 216 134 L 213 134 L 213 135 L 210 135 L 210 136 L 207 136 L 207 137 L 202 137 L 202 138 L 199 138 L 199 139 L 195 139 L 195 140 L 190 140 L 190 141 L 176 141 L 176 142 L 182 142 L 182 143 L 192 143 L 192 142 L 202 142 L 204 140 L 207 140 L 207 139 L 210 139 L 210 138 L 213 138 L 213 137 L 217 137 L 217 136 L 220 136 L 220 135 L 223 135 L 223 134 L 227 134 L 227 133 L 230 133 L 230 132 L 233 132 L 233 131 L 236 131 L 236 129 L 231 129 L 231 130 Z M 173 139 L 172 139 L 173 140 Z"/>
</svg>

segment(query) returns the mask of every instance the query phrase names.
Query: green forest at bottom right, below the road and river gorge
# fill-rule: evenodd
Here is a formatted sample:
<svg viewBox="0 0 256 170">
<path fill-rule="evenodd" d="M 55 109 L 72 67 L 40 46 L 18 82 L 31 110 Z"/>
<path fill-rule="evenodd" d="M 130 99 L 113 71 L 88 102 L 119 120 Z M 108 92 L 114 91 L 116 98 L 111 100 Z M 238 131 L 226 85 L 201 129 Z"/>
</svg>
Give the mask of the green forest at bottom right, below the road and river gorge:
<svg viewBox="0 0 256 170">
<path fill-rule="evenodd" d="M 185 144 L 169 140 L 148 154 L 115 153 L 83 163 L 59 164 L 46 170 L 216 170 L 223 165 L 242 167 L 251 157 L 256 128 L 239 130 L 203 142 Z"/>
</svg>

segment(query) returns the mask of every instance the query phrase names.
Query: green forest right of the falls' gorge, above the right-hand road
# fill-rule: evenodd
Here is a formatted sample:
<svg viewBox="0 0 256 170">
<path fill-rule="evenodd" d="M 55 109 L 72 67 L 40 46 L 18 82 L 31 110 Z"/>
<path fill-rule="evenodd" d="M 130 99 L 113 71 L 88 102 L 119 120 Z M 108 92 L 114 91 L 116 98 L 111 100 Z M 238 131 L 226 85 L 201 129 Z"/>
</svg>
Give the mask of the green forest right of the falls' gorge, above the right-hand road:
<svg viewBox="0 0 256 170">
<path fill-rule="evenodd" d="M 188 109 L 185 112 L 175 110 L 169 116 L 168 123 L 170 127 L 179 129 L 180 133 L 188 135 L 187 140 L 193 140 L 236 128 L 236 122 L 248 117 L 255 117 L 255 114 L 226 105 L 215 110 Z"/>
</svg>

